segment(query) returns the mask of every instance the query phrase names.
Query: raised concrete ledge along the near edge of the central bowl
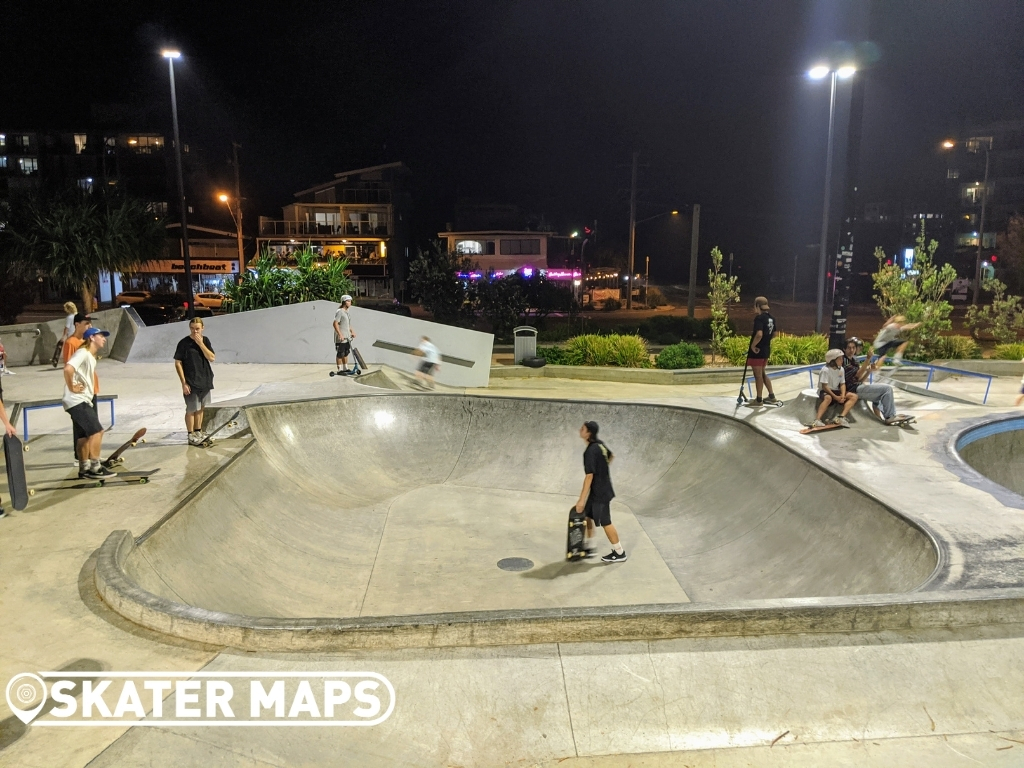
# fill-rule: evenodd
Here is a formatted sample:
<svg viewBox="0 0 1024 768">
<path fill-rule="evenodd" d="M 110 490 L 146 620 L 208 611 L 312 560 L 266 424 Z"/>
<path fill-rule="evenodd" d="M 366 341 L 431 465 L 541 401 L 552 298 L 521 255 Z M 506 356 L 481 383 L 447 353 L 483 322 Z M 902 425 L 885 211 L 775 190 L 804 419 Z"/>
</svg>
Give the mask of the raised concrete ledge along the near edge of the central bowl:
<svg viewBox="0 0 1024 768">
<path fill-rule="evenodd" d="M 366 618 L 257 618 L 158 597 L 132 582 L 124 563 L 130 531 L 99 548 L 96 590 L 126 618 L 157 632 L 253 651 L 437 648 L 556 642 L 664 640 L 948 629 L 1024 623 L 1024 589 L 786 598 L 719 604 L 466 611 Z"/>
</svg>

